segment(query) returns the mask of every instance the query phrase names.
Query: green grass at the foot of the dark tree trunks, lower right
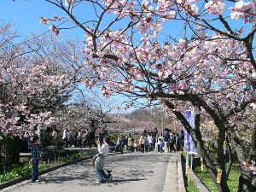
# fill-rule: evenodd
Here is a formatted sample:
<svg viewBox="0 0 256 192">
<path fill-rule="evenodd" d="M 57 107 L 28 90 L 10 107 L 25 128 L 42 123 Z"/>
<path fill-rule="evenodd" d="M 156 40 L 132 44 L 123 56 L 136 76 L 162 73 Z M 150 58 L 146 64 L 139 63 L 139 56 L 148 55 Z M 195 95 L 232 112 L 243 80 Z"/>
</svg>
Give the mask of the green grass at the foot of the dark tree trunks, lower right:
<svg viewBox="0 0 256 192">
<path fill-rule="evenodd" d="M 201 166 L 195 167 L 195 174 L 201 179 L 201 181 L 207 186 L 210 192 L 218 192 L 218 189 L 213 183 L 210 173 L 207 171 L 207 168 L 204 168 L 204 171 L 201 172 Z M 230 177 L 228 179 L 228 185 L 231 192 L 236 192 L 238 188 L 238 179 L 240 176 L 239 167 L 234 164 L 232 166 Z"/>
</svg>

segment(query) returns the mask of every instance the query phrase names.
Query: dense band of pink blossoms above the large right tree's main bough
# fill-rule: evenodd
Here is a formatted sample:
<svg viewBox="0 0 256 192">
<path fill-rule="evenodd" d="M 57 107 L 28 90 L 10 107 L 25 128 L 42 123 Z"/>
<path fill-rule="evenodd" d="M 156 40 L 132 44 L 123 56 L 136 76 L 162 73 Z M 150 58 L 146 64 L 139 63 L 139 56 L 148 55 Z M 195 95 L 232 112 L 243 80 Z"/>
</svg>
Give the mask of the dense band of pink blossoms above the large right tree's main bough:
<svg viewBox="0 0 256 192">
<path fill-rule="evenodd" d="M 84 63 L 92 68 L 95 75 L 95 79 L 84 79 L 84 84 L 90 87 L 103 84 L 105 96 L 122 91 L 148 94 L 150 87 L 136 82 L 147 82 L 149 74 L 153 84 L 161 79 L 172 79 L 166 86 L 166 92 L 173 95 L 199 94 L 208 101 L 224 103 L 227 108 L 242 99 L 255 101 L 255 92 L 249 88 L 245 91 L 247 81 L 241 78 L 255 80 L 252 64 L 243 60 L 247 57 L 245 45 L 220 34 L 207 36 L 207 33 L 201 33 L 208 41 L 195 39 L 187 42 L 180 39 L 177 44 L 160 44 L 156 40 L 151 41 L 154 38 L 145 36 L 139 46 L 132 48 L 128 36 L 112 32 L 112 37 L 99 38 L 99 48 L 111 42 L 99 53 L 100 57 L 92 55 L 90 46 L 84 49 Z M 93 44 L 92 38 L 87 38 L 87 42 Z M 113 55 L 117 55 L 118 61 L 104 57 L 110 49 Z M 230 58 L 236 60 L 227 60 Z M 115 67 L 120 67 L 121 71 L 118 72 Z"/>
</svg>

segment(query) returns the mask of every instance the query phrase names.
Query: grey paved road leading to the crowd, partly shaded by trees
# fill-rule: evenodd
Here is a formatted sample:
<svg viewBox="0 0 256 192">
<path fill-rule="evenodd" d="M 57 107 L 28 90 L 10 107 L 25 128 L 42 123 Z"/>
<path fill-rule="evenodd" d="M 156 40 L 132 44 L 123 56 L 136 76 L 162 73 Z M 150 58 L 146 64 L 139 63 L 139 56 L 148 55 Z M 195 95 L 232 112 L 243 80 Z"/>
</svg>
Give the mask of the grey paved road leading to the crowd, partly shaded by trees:
<svg viewBox="0 0 256 192">
<path fill-rule="evenodd" d="M 96 184 L 90 160 L 65 166 L 41 176 L 40 183 L 25 181 L 3 189 L 12 192 L 162 192 L 177 191 L 178 154 L 119 154 L 107 157 L 113 183 Z M 166 171 L 167 172 L 166 174 Z M 166 183 L 166 185 L 165 185 Z"/>
</svg>

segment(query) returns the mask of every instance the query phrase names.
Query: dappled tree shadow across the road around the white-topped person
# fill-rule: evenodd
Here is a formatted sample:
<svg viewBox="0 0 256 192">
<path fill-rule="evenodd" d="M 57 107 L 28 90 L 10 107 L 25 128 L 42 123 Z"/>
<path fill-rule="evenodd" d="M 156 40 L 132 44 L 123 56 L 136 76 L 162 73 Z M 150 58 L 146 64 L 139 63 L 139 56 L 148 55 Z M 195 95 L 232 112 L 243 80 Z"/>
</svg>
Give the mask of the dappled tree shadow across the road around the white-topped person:
<svg viewBox="0 0 256 192">
<path fill-rule="evenodd" d="M 161 156 L 162 154 L 160 154 Z M 139 182 L 148 180 L 148 177 L 154 176 L 154 171 L 150 170 L 150 165 L 167 162 L 165 155 L 154 156 L 147 154 L 125 154 L 108 157 L 105 169 L 112 169 L 113 182 L 108 185 L 119 185 L 123 183 Z M 146 164 L 143 163 L 145 158 Z M 144 167 L 148 167 L 146 170 Z M 95 185 L 96 172 L 94 166 L 90 165 L 88 160 L 63 167 L 55 172 L 41 177 L 41 184 L 48 183 L 78 183 L 79 185 Z"/>
</svg>

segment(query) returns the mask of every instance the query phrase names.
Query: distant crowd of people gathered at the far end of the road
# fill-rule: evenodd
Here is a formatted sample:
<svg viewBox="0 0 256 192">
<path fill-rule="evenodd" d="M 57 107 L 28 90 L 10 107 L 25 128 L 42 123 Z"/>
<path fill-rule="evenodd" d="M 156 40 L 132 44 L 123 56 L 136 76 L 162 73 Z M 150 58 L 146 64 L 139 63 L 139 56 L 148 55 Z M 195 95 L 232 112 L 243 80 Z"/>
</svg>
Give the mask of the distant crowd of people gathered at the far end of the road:
<svg viewBox="0 0 256 192">
<path fill-rule="evenodd" d="M 56 141 L 56 132 L 52 133 L 53 139 Z M 77 131 L 73 134 L 72 131 L 64 129 L 62 140 L 64 147 L 82 148 L 82 147 L 97 147 L 96 142 L 102 144 L 103 137 L 108 136 L 108 131 L 102 130 L 96 135 L 96 130 L 85 130 L 84 132 Z M 164 135 L 158 134 L 155 129 L 152 132 L 144 132 L 140 137 L 128 134 L 125 138 L 118 137 L 115 142 L 115 151 L 117 152 L 141 152 L 148 153 L 150 151 L 174 152 L 183 150 L 184 134 L 181 131 L 179 134 L 173 131 L 165 131 Z"/>
</svg>

